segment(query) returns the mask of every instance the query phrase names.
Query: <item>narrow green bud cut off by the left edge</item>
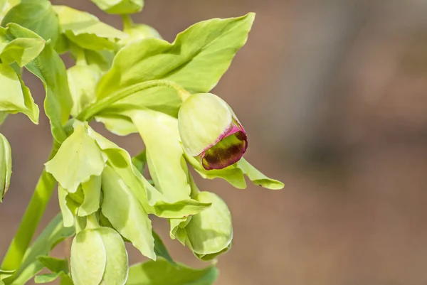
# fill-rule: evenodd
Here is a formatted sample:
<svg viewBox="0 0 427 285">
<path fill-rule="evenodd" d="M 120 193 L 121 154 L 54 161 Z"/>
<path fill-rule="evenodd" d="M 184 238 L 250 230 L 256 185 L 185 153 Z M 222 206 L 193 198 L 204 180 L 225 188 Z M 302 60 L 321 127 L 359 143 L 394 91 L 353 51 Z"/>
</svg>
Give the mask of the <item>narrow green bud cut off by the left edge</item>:
<svg viewBox="0 0 427 285">
<path fill-rule="evenodd" d="M 0 202 L 9 188 L 12 174 L 11 146 L 6 137 L 0 134 Z"/>
</svg>

